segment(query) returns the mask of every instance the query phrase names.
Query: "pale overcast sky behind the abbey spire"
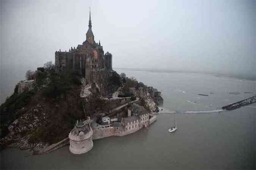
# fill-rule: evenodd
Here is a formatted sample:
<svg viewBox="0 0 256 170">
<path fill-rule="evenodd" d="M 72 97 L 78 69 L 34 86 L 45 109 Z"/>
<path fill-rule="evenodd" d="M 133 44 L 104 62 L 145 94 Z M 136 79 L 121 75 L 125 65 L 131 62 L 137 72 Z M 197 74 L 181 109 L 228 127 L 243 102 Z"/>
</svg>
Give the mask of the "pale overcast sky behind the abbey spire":
<svg viewBox="0 0 256 170">
<path fill-rule="evenodd" d="M 114 68 L 256 74 L 256 1 L 1 3 L 2 68 L 36 69 L 54 61 L 56 50 L 82 44 L 91 7 L 95 39 L 112 53 Z"/>
</svg>

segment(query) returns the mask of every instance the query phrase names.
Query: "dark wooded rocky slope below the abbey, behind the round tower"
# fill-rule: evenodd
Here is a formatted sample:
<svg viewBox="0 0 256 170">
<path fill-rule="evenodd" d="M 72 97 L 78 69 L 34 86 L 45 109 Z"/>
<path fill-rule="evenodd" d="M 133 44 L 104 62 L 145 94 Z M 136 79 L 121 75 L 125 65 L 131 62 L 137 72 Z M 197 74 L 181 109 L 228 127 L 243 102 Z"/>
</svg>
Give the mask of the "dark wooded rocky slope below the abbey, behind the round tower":
<svg viewBox="0 0 256 170">
<path fill-rule="evenodd" d="M 76 120 L 107 109 L 102 97 L 121 84 L 117 75 L 102 70 L 93 74 L 94 83 L 85 84 L 77 73 L 48 70 L 17 84 L 1 105 L 1 147 L 40 151 L 65 139 Z"/>
</svg>

